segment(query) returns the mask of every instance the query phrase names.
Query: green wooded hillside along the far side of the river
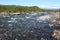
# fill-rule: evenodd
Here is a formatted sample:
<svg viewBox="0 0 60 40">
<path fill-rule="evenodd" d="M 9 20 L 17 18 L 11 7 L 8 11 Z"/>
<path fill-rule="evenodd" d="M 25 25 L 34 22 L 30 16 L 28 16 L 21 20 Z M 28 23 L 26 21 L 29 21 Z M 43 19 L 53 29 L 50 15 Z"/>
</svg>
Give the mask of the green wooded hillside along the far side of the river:
<svg viewBox="0 0 60 40">
<path fill-rule="evenodd" d="M 16 5 L 0 5 L 0 12 L 53 12 L 58 10 L 44 10 L 37 6 L 16 6 Z"/>
</svg>

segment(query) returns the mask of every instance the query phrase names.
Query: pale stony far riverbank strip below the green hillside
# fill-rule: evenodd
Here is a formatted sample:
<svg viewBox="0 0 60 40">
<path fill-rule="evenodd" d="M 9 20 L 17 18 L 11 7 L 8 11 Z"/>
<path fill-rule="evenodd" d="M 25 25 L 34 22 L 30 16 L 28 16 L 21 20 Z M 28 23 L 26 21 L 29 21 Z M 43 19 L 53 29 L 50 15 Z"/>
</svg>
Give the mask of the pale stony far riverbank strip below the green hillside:
<svg viewBox="0 0 60 40">
<path fill-rule="evenodd" d="M 47 13 L 47 12 L 1 12 L 0 16 L 20 15 L 20 14 L 32 14 L 32 13 Z"/>
</svg>

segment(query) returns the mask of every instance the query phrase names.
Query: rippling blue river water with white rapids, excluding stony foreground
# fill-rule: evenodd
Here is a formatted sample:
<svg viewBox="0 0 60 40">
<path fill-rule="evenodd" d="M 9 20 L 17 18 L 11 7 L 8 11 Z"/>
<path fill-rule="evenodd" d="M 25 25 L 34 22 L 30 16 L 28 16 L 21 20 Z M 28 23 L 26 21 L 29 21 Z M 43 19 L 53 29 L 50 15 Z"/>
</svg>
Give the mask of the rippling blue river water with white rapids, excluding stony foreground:
<svg viewBox="0 0 60 40">
<path fill-rule="evenodd" d="M 36 34 L 37 36 L 42 37 L 42 35 L 44 34 L 43 37 L 47 38 L 47 36 L 49 36 L 50 39 L 50 36 L 52 34 L 51 32 L 53 32 L 54 30 L 52 28 L 49 28 L 49 24 L 52 24 L 52 16 L 52 14 L 48 13 L 0 16 L 0 29 L 5 32 L 12 32 L 13 35 L 23 34 L 24 32 L 26 32 L 27 35 L 32 36 Z M 2 34 L 4 34 L 5 32 L 2 32 Z"/>
</svg>

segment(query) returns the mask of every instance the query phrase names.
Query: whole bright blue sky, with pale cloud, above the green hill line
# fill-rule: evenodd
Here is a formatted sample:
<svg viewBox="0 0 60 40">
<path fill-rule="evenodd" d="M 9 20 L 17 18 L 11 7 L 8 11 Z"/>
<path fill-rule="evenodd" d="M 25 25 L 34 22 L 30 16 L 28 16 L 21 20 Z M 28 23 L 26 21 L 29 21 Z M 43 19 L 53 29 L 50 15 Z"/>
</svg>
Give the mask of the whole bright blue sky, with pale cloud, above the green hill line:
<svg viewBox="0 0 60 40">
<path fill-rule="evenodd" d="M 3 5 L 39 6 L 40 8 L 59 9 L 60 0 L 0 0 Z"/>
</svg>

